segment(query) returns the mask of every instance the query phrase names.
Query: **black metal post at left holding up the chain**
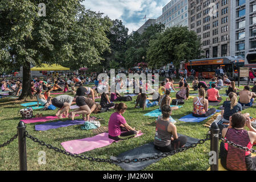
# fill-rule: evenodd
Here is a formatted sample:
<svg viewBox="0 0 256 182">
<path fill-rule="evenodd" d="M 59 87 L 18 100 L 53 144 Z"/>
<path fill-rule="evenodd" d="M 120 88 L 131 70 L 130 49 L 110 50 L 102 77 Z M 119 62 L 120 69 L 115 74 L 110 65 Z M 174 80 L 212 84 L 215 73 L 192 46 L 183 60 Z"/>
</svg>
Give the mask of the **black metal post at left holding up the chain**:
<svg viewBox="0 0 256 182">
<path fill-rule="evenodd" d="M 26 125 L 20 121 L 18 126 L 18 140 L 19 140 L 19 170 L 27 171 L 27 147 L 26 147 Z"/>
</svg>

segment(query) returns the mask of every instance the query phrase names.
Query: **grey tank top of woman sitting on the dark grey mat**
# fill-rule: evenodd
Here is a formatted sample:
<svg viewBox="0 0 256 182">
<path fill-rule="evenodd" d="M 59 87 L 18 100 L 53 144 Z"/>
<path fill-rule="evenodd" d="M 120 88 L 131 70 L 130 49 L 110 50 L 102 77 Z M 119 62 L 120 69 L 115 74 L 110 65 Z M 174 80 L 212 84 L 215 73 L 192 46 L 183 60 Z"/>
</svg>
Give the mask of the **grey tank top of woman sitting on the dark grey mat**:
<svg viewBox="0 0 256 182">
<path fill-rule="evenodd" d="M 154 144 L 158 147 L 166 147 L 171 144 L 172 133 L 167 128 L 170 121 L 163 121 L 161 118 L 156 122 L 156 132 Z"/>
</svg>

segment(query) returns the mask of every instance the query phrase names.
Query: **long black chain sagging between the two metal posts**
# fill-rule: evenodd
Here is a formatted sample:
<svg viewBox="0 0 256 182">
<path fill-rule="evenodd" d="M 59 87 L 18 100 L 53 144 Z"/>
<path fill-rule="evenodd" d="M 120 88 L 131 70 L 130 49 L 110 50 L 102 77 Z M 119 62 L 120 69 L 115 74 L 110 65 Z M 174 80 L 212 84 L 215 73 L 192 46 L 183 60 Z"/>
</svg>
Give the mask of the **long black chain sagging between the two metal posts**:
<svg viewBox="0 0 256 182">
<path fill-rule="evenodd" d="M 197 144 L 203 144 L 206 141 L 210 140 L 209 137 L 207 137 L 206 139 L 199 140 L 197 143 L 192 143 L 191 146 L 179 148 L 179 149 L 171 151 L 171 152 L 166 152 L 166 153 L 163 153 L 161 155 L 155 155 L 155 156 L 148 157 L 148 158 L 113 160 L 113 159 L 99 159 L 99 158 L 87 157 L 87 156 L 84 156 L 84 155 L 72 154 L 71 152 L 67 152 L 67 151 L 61 150 L 60 148 L 53 147 L 53 146 L 51 146 L 51 144 L 46 144 L 45 142 L 40 141 L 38 138 L 32 137 L 30 134 L 28 134 L 27 131 L 26 131 L 25 135 L 26 135 L 27 138 L 32 139 L 34 142 L 39 143 L 42 146 L 46 146 L 47 148 L 55 150 L 56 152 L 60 152 L 62 154 L 72 156 L 73 158 L 80 158 L 82 160 L 86 159 L 86 160 L 90 160 L 90 161 L 93 161 L 93 162 L 118 163 L 118 164 L 119 163 L 131 163 L 131 162 L 137 163 L 137 162 L 143 162 L 143 161 L 146 161 L 146 160 L 166 158 L 167 156 L 171 156 L 171 155 L 177 154 L 179 152 L 186 151 L 189 148 L 195 148 L 197 146 Z"/>
</svg>

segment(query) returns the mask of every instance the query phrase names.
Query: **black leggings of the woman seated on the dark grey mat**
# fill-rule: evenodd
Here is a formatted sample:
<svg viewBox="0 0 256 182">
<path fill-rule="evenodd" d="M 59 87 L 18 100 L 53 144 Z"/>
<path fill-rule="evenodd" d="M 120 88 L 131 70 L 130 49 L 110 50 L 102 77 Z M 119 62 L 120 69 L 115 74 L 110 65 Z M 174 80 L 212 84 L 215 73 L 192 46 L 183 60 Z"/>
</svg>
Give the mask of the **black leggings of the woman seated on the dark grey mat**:
<svg viewBox="0 0 256 182">
<path fill-rule="evenodd" d="M 177 150 L 177 148 L 181 148 L 184 146 L 184 144 L 187 143 L 187 137 L 181 136 L 177 138 L 176 140 L 173 140 L 170 145 L 165 147 L 159 147 L 155 145 L 156 150 L 159 150 L 161 152 L 170 152 L 173 150 Z"/>
</svg>

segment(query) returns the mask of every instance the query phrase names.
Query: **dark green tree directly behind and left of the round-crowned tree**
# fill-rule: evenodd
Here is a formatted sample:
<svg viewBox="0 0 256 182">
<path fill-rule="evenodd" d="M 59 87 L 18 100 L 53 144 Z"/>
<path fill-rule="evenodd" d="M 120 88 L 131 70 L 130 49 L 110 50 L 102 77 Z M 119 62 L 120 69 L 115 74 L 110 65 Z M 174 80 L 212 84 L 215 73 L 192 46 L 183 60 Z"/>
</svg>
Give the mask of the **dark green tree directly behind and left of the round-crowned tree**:
<svg viewBox="0 0 256 182">
<path fill-rule="evenodd" d="M 150 40 L 154 40 L 158 33 L 164 30 L 164 24 L 154 24 L 143 32 L 139 34 L 135 32 L 127 40 L 127 51 L 125 52 L 126 68 L 131 68 L 140 62 L 148 63 L 147 59 L 147 48 L 149 46 Z M 144 59 L 142 60 L 142 57 Z"/>
</svg>

